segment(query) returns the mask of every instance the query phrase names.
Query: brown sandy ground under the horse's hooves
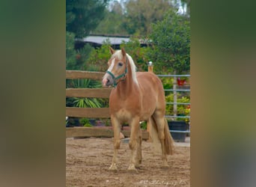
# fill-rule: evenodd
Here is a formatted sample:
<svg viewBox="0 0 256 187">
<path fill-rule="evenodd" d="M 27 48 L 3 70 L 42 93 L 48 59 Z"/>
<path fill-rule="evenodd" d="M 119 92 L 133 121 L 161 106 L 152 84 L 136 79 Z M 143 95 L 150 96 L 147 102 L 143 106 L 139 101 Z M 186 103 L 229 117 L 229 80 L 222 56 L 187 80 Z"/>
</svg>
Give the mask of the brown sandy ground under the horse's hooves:
<svg viewBox="0 0 256 187">
<path fill-rule="evenodd" d="M 161 156 L 153 153 L 150 142 L 142 142 L 142 164 L 138 174 L 127 171 L 129 145 L 121 142 L 118 172 L 112 162 L 112 138 L 66 138 L 66 186 L 190 186 L 190 147 L 176 146 L 162 169 Z"/>
</svg>

